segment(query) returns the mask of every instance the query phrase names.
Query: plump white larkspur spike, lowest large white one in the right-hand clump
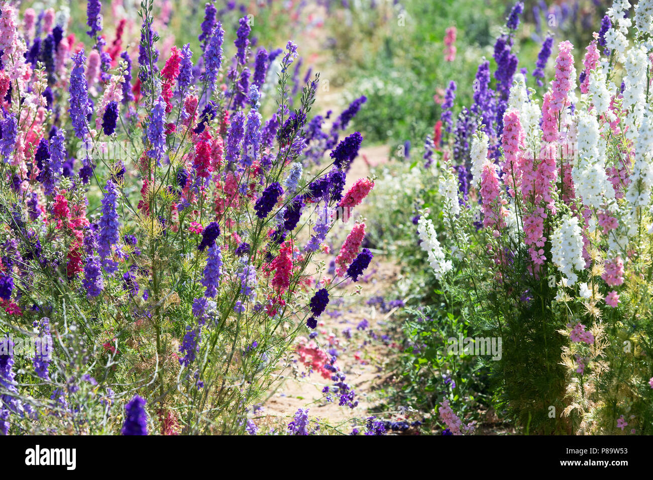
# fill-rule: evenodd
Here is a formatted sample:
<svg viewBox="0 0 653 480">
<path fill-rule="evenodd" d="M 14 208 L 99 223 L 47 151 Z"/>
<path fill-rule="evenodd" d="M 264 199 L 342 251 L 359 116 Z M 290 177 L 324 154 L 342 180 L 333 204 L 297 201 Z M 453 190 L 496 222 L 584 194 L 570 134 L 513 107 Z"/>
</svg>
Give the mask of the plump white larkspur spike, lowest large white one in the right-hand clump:
<svg viewBox="0 0 653 480">
<path fill-rule="evenodd" d="M 563 274 L 569 285 L 578 281 L 574 270 L 583 270 L 585 260 L 582 258 L 582 231 L 577 217 L 566 214 L 562 217 L 559 227 L 551 235 L 551 257 L 558 267 L 558 272 Z"/>
</svg>

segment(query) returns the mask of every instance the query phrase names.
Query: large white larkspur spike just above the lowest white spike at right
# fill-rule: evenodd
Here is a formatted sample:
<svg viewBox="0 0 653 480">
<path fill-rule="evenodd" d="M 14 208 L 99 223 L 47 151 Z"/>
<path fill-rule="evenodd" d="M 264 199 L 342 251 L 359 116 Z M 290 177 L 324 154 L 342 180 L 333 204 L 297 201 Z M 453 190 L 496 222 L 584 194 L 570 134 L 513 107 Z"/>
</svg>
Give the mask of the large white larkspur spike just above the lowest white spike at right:
<svg viewBox="0 0 653 480">
<path fill-rule="evenodd" d="M 599 146 L 599 122 L 593 112 L 579 109 L 578 159 L 571 170 L 571 178 L 582 202 L 597 210 L 603 199 L 613 200 L 614 189 L 605 174 L 605 148 Z"/>
</svg>

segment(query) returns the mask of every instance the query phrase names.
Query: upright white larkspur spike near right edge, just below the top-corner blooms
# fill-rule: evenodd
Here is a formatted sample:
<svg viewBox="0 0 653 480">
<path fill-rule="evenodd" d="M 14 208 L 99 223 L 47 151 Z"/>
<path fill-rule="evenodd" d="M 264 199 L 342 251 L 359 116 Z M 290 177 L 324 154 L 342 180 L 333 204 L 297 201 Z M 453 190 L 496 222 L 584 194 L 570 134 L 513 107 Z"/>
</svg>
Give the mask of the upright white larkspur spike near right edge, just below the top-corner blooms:
<svg viewBox="0 0 653 480">
<path fill-rule="evenodd" d="M 646 104 L 646 65 L 648 65 L 648 55 L 646 48 L 641 45 L 628 50 L 624 69 L 624 101 L 622 108 L 631 110 L 626 115 L 626 138 L 635 140 L 637 138 L 637 129 L 644 116 Z"/>
</svg>

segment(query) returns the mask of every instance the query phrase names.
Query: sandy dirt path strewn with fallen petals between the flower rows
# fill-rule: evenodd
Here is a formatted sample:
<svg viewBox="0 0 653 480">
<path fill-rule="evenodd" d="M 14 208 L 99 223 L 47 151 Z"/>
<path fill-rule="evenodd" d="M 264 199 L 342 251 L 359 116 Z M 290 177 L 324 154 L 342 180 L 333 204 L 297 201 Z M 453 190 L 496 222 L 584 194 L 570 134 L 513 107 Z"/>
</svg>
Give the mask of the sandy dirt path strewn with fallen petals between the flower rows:
<svg viewBox="0 0 653 480">
<path fill-rule="evenodd" d="M 385 146 L 362 148 L 347 174 L 347 187 L 370 174 L 370 165 L 387 161 L 388 152 Z M 372 216 L 374 208 L 367 205 L 366 216 Z M 346 228 L 351 229 L 351 226 Z M 334 248 L 340 248 L 340 244 Z M 330 258 L 336 254 L 337 251 L 331 252 Z M 386 387 L 394 382 L 390 364 L 398 348 L 394 338 L 398 308 L 390 303 L 397 300 L 398 280 L 399 266 L 377 252 L 364 278 L 358 282 L 349 280 L 332 291 L 330 304 L 319 317 L 315 338 L 302 337 L 297 344 L 319 349 L 325 357 L 316 360 L 311 368 L 311 364 L 302 362 L 301 352 L 294 354 L 293 372 L 289 372 L 283 384 L 263 405 L 263 415 L 268 417 L 271 426 L 285 428 L 283 424 L 287 424 L 299 408 L 308 408 L 311 420 L 319 419 L 326 430 L 334 428 L 331 433 L 349 434 L 355 419 L 360 424 L 360 420 L 384 409 Z M 357 284 L 362 285 L 360 294 L 352 295 Z M 334 366 L 344 374 L 343 381 L 355 392 L 353 402 L 357 405 L 354 408 L 339 405 L 339 395 L 332 392 L 332 372 L 323 370 L 323 376 L 314 368 L 330 355 L 337 356 Z M 325 393 L 325 387 L 330 387 L 331 391 Z M 327 396 L 332 401 L 328 401 Z M 383 418 L 388 419 L 389 413 Z"/>
</svg>

